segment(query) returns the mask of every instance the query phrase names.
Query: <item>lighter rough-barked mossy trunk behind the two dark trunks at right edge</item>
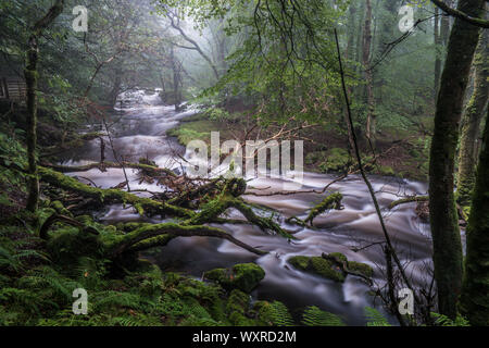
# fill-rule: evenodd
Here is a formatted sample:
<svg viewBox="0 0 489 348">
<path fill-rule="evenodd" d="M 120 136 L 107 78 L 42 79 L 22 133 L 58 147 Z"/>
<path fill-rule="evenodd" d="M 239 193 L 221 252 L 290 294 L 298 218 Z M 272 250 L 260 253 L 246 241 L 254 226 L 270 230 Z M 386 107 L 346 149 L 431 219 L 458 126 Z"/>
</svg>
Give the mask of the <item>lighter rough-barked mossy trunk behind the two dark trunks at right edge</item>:
<svg viewBox="0 0 489 348">
<path fill-rule="evenodd" d="M 465 109 L 462 139 L 460 145 L 457 201 L 461 206 L 469 206 L 472 189 L 475 183 L 475 167 L 477 165 L 477 140 L 480 123 L 489 91 L 489 61 L 488 61 L 489 32 L 480 35 L 479 44 L 474 58 L 474 92 Z"/>
</svg>

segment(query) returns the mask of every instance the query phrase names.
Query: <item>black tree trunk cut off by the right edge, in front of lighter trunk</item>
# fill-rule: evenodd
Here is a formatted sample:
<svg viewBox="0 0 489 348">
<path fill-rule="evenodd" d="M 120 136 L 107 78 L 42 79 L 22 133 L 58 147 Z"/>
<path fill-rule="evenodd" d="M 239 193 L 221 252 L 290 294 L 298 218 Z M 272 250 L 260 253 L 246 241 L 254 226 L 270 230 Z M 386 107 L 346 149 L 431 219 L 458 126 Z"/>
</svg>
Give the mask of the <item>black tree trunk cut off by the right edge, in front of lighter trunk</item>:
<svg viewBox="0 0 489 348">
<path fill-rule="evenodd" d="M 467 226 L 462 309 L 472 325 L 489 325 L 489 110 Z"/>
</svg>

